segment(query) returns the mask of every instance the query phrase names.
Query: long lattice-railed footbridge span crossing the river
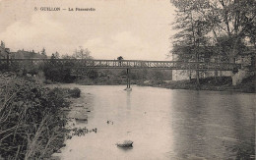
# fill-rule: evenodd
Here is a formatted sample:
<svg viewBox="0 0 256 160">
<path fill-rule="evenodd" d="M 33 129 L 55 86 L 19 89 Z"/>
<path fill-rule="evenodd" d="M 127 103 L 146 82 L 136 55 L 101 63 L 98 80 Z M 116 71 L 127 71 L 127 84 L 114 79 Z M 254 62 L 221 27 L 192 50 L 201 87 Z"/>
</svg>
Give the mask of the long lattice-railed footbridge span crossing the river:
<svg viewBox="0 0 256 160">
<path fill-rule="evenodd" d="M 199 70 L 233 71 L 239 64 L 206 63 L 181 61 L 139 61 L 139 60 L 81 60 L 81 59 L 0 59 L 0 64 L 25 66 L 52 65 L 91 69 L 160 69 L 160 70 Z"/>
</svg>

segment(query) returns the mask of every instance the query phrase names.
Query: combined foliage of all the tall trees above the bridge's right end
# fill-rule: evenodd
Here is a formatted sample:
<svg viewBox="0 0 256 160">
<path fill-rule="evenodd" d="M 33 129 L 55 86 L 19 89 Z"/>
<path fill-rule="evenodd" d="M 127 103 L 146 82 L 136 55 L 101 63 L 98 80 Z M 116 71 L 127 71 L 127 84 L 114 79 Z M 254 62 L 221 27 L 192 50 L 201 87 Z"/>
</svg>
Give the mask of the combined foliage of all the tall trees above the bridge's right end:
<svg viewBox="0 0 256 160">
<path fill-rule="evenodd" d="M 212 55 L 233 62 L 244 39 L 255 46 L 255 0 L 171 0 L 177 8 L 173 53 L 193 54 L 194 46 L 213 46 Z M 189 46 L 179 50 L 181 46 Z M 200 53 L 199 53 L 200 54 Z M 184 57 L 182 57 L 184 58 Z M 190 57 L 191 58 L 191 57 Z"/>
</svg>

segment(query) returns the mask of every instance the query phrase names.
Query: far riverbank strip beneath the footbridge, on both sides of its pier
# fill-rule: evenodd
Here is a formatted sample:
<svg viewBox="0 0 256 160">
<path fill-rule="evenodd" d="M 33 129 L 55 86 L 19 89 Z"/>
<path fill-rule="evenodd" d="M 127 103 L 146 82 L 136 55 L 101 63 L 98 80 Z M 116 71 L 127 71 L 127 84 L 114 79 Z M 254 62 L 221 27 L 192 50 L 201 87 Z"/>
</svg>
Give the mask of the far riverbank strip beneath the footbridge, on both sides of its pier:
<svg viewBox="0 0 256 160">
<path fill-rule="evenodd" d="M 200 80 L 200 85 L 196 80 L 131 80 L 131 84 L 141 86 L 154 86 L 169 89 L 189 89 L 189 90 L 216 90 L 216 91 L 237 91 L 246 93 L 256 93 L 256 78 L 250 77 L 243 80 L 240 84 L 233 86 L 230 77 L 206 78 Z M 125 85 L 126 80 L 76 80 L 82 85 Z"/>
</svg>

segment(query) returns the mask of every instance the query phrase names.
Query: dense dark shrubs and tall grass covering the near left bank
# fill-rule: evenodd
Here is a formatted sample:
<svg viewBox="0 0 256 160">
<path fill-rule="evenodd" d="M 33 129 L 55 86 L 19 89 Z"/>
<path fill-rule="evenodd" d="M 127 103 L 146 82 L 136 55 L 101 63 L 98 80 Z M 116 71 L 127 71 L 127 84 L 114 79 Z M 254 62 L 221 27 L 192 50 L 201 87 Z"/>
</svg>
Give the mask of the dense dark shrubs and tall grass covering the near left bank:
<svg viewBox="0 0 256 160">
<path fill-rule="evenodd" d="M 29 78 L 0 74 L 0 158 L 44 159 L 64 146 L 63 109 L 80 90 L 46 88 Z"/>
</svg>

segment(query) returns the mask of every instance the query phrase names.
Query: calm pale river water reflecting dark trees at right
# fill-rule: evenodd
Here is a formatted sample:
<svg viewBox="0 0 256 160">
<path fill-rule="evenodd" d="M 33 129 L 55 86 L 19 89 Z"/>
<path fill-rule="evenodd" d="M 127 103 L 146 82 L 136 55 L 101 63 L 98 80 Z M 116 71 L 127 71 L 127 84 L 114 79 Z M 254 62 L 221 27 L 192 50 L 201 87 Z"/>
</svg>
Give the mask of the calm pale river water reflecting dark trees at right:
<svg viewBox="0 0 256 160">
<path fill-rule="evenodd" d="M 97 132 L 66 140 L 61 159 L 254 159 L 255 94 L 62 86 L 82 90 L 73 105 L 88 115 L 88 122 L 74 121 L 75 127 Z M 115 145 L 126 139 L 134 141 L 133 148 Z"/>
</svg>

